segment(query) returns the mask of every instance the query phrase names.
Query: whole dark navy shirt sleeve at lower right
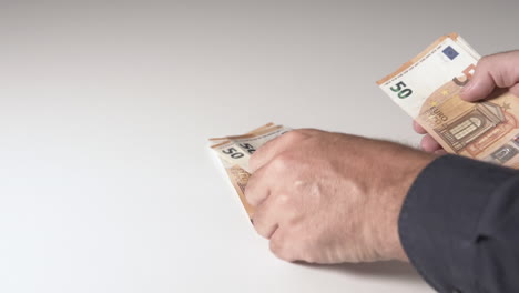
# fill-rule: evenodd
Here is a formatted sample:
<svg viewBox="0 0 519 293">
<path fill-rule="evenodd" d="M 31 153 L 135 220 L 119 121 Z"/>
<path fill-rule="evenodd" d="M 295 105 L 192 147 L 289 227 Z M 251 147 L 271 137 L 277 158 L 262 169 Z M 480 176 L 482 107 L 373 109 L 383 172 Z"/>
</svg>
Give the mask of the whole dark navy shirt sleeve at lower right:
<svg viewBox="0 0 519 293">
<path fill-rule="evenodd" d="M 519 292 L 519 171 L 440 156 L 413 183 L 398 225 L 437 291 Z"/>
</svg>

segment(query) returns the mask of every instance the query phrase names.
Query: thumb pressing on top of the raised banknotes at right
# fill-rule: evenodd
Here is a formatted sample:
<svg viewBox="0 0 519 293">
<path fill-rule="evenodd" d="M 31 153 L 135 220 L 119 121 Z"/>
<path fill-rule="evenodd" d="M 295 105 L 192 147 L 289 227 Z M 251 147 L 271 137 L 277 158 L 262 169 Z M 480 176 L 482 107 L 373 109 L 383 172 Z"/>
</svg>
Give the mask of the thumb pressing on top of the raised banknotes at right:
<svg viewBox="0 0 519 293">
<path fill-rule="evenodd" d="M 486 99 L 497 87 L 513 88 L 519 82 L 519 51 L 484 57 L 479 60 L 470 82 L 462 89 L 461 99 Z"/>
</svg>

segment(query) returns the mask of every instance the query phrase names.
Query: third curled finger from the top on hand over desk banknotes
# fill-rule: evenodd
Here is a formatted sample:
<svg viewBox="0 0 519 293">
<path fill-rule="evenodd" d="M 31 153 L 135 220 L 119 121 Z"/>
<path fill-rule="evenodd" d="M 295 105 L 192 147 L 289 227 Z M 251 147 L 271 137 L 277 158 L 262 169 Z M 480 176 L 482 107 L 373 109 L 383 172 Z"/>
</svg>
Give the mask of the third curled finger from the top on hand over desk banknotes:
<svg viewBox="0 0 519 293">
<path fill-rule="evenodd" d="M 260 206 L 254 210 L 252 218 L 254 229 L 256 232 L 266 238 L 271 239 L 274 232 L 279 226 L 277 216 L 281 213 L 277 211 L 273 200 L 265 200 Z"/>
</svg>

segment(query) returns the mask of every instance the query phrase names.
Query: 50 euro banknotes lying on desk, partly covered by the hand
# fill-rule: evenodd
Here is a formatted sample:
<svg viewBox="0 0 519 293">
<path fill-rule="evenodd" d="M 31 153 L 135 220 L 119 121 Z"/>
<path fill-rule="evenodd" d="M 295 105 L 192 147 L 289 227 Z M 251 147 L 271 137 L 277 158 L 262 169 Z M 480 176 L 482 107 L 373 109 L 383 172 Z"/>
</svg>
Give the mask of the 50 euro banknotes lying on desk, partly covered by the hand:
<svg viewBox="0 0 519 293">
<path fill-rule="evenodd" d="M 288 132 L 291 129 L 267 123 L 242 135 L 210 139 L 211 149 L 216 152 L 231 183 L 234 186 L 245 211 L 252 218 L 254 209 L 245 199 L 245 188 L 251 176 L 248 160 L 251 155 L 268 141 Z"/>
</svg>

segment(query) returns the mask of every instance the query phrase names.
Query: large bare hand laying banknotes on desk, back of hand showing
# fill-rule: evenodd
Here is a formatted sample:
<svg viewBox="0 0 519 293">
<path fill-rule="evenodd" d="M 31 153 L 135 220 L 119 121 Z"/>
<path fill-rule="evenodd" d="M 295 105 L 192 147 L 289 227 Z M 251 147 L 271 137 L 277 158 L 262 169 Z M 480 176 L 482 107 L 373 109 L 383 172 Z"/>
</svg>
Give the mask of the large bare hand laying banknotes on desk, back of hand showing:
<svg viewBox="0 0 519 293">
<path fill-rule="evenodd" d="M 399 212 L 434 158 L 391 142 L 294 130 L 251 158 L 245 196 L 256 231 L 283 260 L 405 261 Z"/>
</svg>

